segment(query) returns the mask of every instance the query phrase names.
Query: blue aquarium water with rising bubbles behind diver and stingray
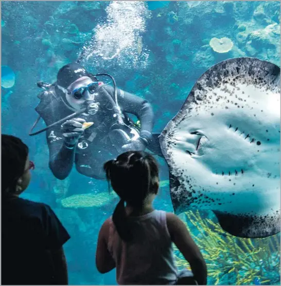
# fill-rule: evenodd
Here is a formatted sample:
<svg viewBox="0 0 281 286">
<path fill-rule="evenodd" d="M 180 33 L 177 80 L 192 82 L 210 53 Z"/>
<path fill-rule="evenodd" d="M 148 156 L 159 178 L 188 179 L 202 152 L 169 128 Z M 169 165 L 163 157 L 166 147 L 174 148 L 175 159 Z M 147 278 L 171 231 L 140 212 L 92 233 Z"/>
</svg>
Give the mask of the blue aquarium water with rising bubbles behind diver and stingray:
<svg viewBox="0 0 281 286">
<path fill-rule="evenodd" d="M 153 130 L 161 132 L 177 114 L 196 80 L 216 63 L 252 56 L 279 65 L 279 22 L 278 2 L 2 1 L 2 66 L 14 73 L 14 84 L 2 86 L 2 132 L 20 137 L 36 164 L 23 197 L 49 204 L 72 236 L 65 244 L 69 283 L 116 284 L 115 271 L 101 275 L 95 267 L 97 234 L 116 200 L 87 208 L 60 204 L 60 199 L 77 194 L 102 193 L 103 198 L 107 197 L 108 185 L 84 177 L 75 169 L 64 181 L 52 175 L 45 134 L 28 136 L 38 116 L 34 110 L 40 91 L 36 83 L 54 82 L 59 68 L 75 61 L 85 46 L 84 66 L 93 73 L 113 75 L 119 88 L 146 98 L 155 112 Z M 231 41 L 232 47 L 222 46 L 217 52 L 209 45 L 210 40 L 223 37 Z M 43 127 L 40 122 L 37 128 Z M 157 159 L 161 180 L 168 180 L 164 160 Z M 172 211 L 169 186 L 167 182 L 163 185 L 155 207 Z M 201 217 L 216 222 L 210 213 L 201 213 Z M 192 224 L 189 227 L 193 235 L 199 233 Z M 235 259 L 232 249 L 221 252 L 230 262 L 207 261 L 215 265 L 208 283 L 279 284 L 279 240 L 276 235 L 263 242 L 253 241 L 251 254 L 241 246 L 244 256 L 240 254 L 241 263 L 235 270 L 230 266 Z M 233 241 L 241 244 L 237 238 Z M 262 247 L 266 250 L 260 251 Z M 248 264 L 243 264 L 246 260 Z"/>
</svg>

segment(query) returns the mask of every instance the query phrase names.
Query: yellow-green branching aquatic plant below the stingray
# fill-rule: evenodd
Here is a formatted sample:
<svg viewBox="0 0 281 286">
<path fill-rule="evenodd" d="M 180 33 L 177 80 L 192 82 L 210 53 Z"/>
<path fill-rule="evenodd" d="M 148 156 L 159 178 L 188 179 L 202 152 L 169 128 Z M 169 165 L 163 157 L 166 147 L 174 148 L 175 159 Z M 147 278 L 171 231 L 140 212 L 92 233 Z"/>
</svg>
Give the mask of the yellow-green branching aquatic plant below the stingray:
<svg viewBox="0 0 281 286">
<path fill-rule="evenodd" d="M 202 218 L 198 211 L 184 214 L 192 238 L 199 246 L 208 268 L 208 283 L 251 284 L 255 278 L 261 284 L 280 281 L 280 236 L 239 238 L 222 230 L 218 223 Z M 179 268 L 190 269 L 175 247 Z"/>
</svg>

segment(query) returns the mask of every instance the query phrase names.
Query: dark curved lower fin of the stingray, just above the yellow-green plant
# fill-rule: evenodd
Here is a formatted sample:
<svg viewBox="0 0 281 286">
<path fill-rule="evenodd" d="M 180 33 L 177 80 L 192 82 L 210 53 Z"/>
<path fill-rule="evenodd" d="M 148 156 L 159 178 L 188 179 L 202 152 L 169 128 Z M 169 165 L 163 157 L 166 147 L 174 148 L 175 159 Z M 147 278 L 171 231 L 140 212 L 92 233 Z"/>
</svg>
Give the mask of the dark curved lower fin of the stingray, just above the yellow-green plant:
<svg viewBox="0 0 281 286">
<path fill-rule="evenodd" d="M 235 215 L 214 211 L 222 229 L 243 238 L 262 238 L 280 232 L 280 212 L 271 215 Z"/>
</svg>

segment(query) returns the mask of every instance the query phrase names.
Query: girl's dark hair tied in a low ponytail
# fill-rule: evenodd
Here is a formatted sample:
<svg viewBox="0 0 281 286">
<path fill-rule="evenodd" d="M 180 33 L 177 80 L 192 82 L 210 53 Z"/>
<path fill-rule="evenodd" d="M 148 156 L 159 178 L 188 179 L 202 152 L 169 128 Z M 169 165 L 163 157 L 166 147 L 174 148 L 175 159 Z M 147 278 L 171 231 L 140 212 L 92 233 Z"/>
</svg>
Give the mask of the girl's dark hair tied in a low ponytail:
<svg viewBox="0 0 281 286">
<path fill-rule="evenodd" d="M 128 151 L 103 166 L 107 179 L 120 197 L 112 220 L 122 240 L 133 238 L 132 228 L 126 219 L 125 202 L 141 208 L 148 194 L 157 194 L 159 168 L 156 160 L 145 151 Z"/>
</svg>

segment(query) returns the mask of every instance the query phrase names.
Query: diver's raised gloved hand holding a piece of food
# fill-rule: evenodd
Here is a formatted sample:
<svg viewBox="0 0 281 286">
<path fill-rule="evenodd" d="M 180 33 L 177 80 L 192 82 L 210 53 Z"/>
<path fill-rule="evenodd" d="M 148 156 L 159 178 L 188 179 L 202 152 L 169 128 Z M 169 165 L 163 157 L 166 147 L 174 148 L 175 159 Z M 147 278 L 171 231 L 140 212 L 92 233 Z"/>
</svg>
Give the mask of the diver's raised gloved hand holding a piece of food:
<svg viewBox="0 0 281 286">
<path fill-rule="evenodd" d="M 78 143 L 78 139 L 84 133 L 82 128 L 84 122 L 82 118 L 74 118 L 61 125 L 64 144 L 67 148 L 73 148 Z"/>
</svg>

